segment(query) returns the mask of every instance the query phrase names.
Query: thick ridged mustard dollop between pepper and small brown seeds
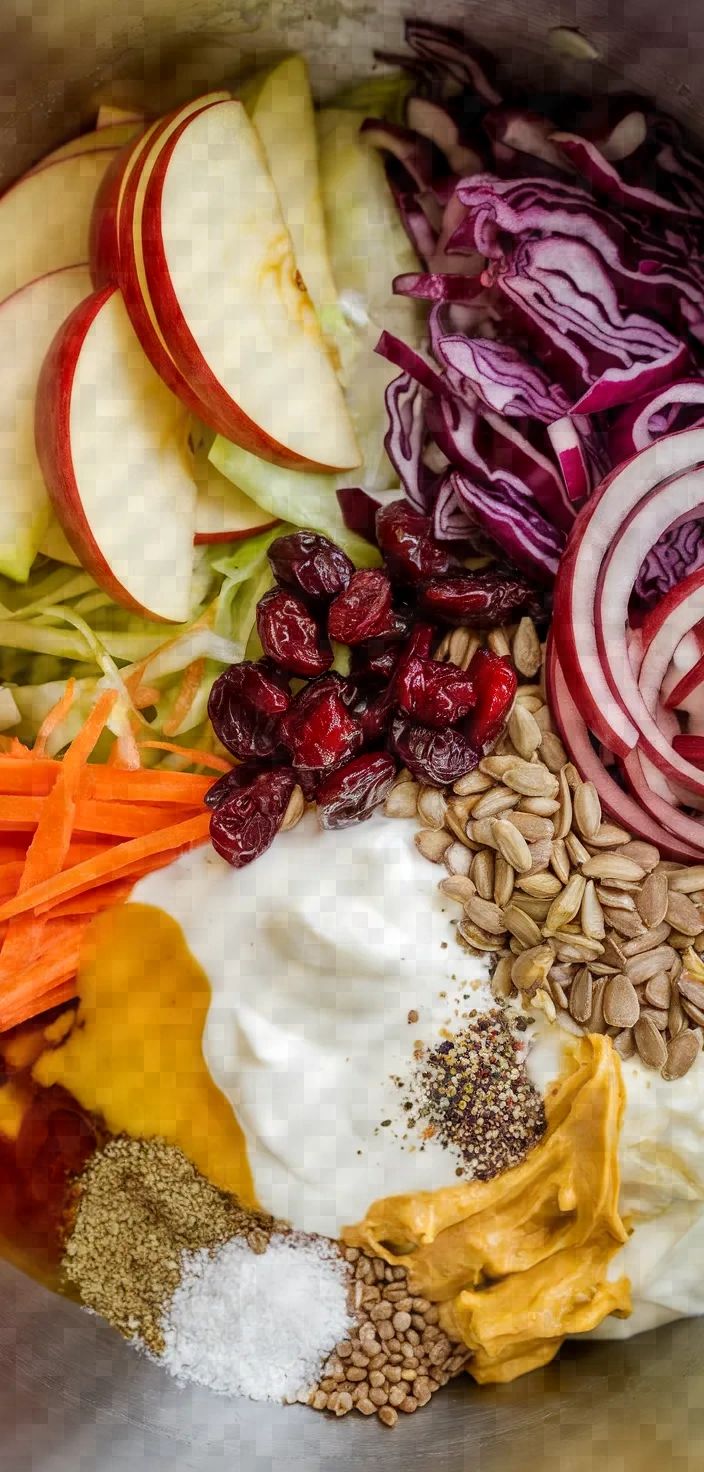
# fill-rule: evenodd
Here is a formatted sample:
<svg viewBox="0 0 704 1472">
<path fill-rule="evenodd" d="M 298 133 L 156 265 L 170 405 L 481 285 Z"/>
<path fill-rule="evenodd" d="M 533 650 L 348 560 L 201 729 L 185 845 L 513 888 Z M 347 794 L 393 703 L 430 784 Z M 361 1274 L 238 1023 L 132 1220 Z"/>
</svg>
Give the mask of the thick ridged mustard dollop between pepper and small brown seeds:
<svg viewBox="0 0 704 1472">
<path fill-rule="evenodd" d="M 442 1304 L 442 1328 L 473 1350 L 468 1370 L 480 1384 L 538 1369 L 566 1335 L 630 1313 L 629 1281 L 607 1281 L 627 1239 L 619 1057 L 602 1036 L 570 1042 L 566 1057 L 545 1100 L 546 1132 L 520 1166 L 495 1181 L 374 1201 L 342 1234 L 402 1263 L 411 1291 Z"/>
</svg>

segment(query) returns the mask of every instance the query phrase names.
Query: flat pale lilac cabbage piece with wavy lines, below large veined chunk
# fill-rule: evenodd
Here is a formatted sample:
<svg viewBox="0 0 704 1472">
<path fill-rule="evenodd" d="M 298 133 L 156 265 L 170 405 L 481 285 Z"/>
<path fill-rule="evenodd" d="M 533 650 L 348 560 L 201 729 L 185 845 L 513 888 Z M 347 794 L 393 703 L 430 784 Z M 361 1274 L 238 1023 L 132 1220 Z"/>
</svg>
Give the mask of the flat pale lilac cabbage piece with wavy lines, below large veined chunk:
<svg viewBox="0 0 704 1472">
<path fill-rule="evenodd" d="M 510 343 L 487 342 L 454 333 L 434 346 L 445 368 L 471 384 L 489 409 L 508 418 L 523 415 L 551 424 L 570 411 L 564 389 L 551 383 L 541 368 L 529 364 Z"/>
</svg>

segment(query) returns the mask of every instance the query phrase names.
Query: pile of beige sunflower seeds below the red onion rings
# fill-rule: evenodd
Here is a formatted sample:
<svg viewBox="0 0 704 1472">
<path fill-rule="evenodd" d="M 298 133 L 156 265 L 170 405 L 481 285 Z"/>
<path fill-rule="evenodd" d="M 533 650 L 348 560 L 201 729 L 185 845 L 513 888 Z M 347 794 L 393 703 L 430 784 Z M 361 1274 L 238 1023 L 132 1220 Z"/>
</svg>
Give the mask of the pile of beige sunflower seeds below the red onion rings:
<svg viewBox="0 0 704 1472">
<path fill-rule="evenodd" d="M 482 642 L 452 630 L 437 658 L 467 668 Z M 604 818 L 552 729 L 533 621 L 486 643 L 510 649 L 520 682 L 493 752 L 433 798 L 401 773 L 386 813 L 424 823 L 417 848 L 445 866 L 457 939 L 490 961 L 498 1001 L 520 995 L 567 1032 L 608 1033 L 622 1058 L 683 1078 L 704 1042 L 704 864 L 661 860 Z"/>
</svg>

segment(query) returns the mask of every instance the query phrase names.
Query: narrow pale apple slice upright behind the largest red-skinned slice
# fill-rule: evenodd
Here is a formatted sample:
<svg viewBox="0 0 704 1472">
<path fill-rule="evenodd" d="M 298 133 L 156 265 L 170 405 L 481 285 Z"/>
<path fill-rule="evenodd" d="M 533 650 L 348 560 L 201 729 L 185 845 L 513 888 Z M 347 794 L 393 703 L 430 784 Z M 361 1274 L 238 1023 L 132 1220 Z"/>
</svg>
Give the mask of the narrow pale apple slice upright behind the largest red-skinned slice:
<svg viewBox="0 0 704 1472">
<path fill-rule="evenodd" d="M 239 97 L 262 140 L 296 265 L 323 331 L 334 334 L 340 309 L 327 250 L 315 112 L 303 57 L 287 56 L 278 66 L 259 72 L 239 88 Z"/>
</svg>

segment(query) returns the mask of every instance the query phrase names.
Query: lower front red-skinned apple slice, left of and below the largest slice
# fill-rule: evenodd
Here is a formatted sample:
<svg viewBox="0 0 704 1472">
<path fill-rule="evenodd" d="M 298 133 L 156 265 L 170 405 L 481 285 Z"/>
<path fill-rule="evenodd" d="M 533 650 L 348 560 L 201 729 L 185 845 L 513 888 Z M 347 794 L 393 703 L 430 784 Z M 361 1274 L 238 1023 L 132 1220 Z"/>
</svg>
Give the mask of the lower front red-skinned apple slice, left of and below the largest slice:
<svg viewBox="0 0 704 1472">
<path fill-rule="evenodd" d="M 190 612 L 196 487 L 187 430 L 119 291 L 96 291 L 44 359 L 37 453 L 82 567 L 116 604 L 165 623 Z"/>
</svg>

